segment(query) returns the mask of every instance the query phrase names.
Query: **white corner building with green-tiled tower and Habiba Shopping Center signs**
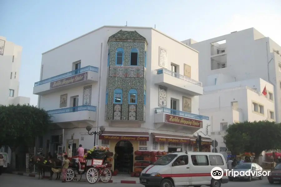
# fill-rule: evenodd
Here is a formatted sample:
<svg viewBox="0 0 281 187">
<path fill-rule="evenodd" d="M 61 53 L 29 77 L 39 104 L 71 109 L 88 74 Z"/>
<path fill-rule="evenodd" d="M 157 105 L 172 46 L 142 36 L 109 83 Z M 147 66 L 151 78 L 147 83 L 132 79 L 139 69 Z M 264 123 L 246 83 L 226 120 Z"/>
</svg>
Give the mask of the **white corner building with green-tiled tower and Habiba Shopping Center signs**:
<svg viewBox="0 0 281 187">
<path fill-rule="evenodd" d="M 210 151 L 209 117 L 198 110 L 198 51 L 156 29 L 102 26 L 43 53 L 40 76 L 33 93 L 54 128 L 44 153 L 69 140 L 72 151 L 91 148 L 89 125 L 105 127 L 96 142 L 118 154 L 113 162 L 136 150 L 196 151 L 197 132 Z"/>
</svg>

